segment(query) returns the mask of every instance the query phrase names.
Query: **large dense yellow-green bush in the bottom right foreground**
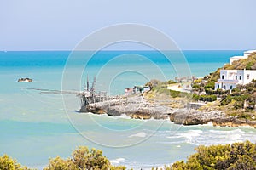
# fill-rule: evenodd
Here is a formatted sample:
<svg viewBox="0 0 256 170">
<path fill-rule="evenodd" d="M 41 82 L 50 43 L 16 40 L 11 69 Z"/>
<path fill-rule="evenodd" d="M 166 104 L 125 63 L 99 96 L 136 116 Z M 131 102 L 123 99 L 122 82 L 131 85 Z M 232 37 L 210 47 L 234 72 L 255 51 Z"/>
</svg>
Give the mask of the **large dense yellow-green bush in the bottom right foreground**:
<svg viewBox="0 0 256 170">
<path fill-rule="evenodd" d="M 256 144 L 243 143 L 199 146 L 188 161 L 177 161 L 173 170 L 181 169 L 256 169 Z"/>
</svg>

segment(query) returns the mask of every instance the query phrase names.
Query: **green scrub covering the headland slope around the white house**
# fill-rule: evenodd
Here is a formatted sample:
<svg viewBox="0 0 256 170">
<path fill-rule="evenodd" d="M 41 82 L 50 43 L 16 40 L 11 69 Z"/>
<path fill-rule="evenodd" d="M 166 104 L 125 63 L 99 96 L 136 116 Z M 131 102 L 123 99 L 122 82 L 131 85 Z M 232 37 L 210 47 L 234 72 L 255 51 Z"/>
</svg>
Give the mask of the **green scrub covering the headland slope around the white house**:
<svg viewBox="0 0 256 170">
<path fill-rule="evenodd" d="M 170 99 L 172 101 L 176 99 L 182 100 L 183 103 L 191 100 L 213 102 L 219 98 L 218 101 L 212 103 L 214 108 L 212 105 L 206 105 L 201 108 L 201 111 L 212 111 L 212 109 L 214 109 L 224 111 L 228 116 L 236 116 L 238 119 L 253 121 L 256 117 L 256 81 L 253 80 L 251 83 L 244 86 L 237 85 L 232 91 L 223 89 L 214 90 L 214 85 L 219 79 L 221 69 L 256 69 L 256 53 L 251 54 L 247 59 L 234 61 L 232 65 L 224 65 L 223 68 L 218 68 L 217 71 L 203 78 L 192 78 L 191 94 L 167 89 L 168 86 L 182 88 L 184 83 L 186 83 L 185 79 L 182 80 L 176 77 L 176 81 L 160 82 L 158 80 L 152 80 L 148 82 L 147 85 L 149 85 L 152 90 L 146 94 L 146 97 L 148 97 L 148 99 Z M 170 104 L 169 106 L 183 107 L 185 105 Z"/>
</svg>

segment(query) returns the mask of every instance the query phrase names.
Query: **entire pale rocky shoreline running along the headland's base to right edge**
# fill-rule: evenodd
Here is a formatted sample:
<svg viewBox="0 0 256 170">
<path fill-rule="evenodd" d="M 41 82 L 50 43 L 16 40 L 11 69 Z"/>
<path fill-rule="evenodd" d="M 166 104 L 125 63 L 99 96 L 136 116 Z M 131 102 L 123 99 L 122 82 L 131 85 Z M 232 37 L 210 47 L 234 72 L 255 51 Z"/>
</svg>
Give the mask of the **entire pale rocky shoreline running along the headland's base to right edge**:
<svg viewBox="0 0 256 170">
<path fill-rule="evenodd" d="M 199 111 L 189 108 L 173 109 L 168 106 L 148 102 L 143 96 L 98 102 L 87 105 L 86 110 L 95 114 L 108 114 L 108 116 L 125 114 L 135 119 L 170 119 L 172 122 L 183 125 L 198 125 L 212 122 L 213 126 L 251 126 L 256 128 L 255 121 L 240 120 L 236 116 L 226 116 L 222 111 Z"/>
</svg>

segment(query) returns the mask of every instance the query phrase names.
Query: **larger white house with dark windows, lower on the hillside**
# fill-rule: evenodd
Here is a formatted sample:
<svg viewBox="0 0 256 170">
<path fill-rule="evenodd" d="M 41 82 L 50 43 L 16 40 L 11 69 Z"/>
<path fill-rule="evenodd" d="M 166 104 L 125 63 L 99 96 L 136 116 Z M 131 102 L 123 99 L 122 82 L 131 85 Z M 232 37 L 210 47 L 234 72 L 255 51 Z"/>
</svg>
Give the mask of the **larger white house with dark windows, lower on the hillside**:
<svg viewBox="0 0 256 170">
<path fill-rule="evenodd" d="M 220 70 L 220 79 L 215 82 L 215 90 L 231 90 L 236 88 L 236 84 L 245 85 L 253 79 L 256 80 L 256 70 Z"/>
</svg>

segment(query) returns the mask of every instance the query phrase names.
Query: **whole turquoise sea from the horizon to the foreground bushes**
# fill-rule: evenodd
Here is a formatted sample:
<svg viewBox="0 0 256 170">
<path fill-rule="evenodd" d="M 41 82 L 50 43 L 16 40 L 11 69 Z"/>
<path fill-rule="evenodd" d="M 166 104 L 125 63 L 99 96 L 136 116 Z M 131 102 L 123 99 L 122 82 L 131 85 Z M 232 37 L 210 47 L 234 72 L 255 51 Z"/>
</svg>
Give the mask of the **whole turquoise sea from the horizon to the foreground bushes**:
<svg viewBox="0 0 256 170">
<path fill-rule="evenodd" d="M 117 95 L 153 78 L 203 77 L 242 53 L 183 51 L 184 59 L 174 57 L 170 63 L 153 51 L 79 52 L 74 59 L 69 51 L 0 52 L 0 155 L 6 153 L 21 164 L 42 169 L 50 157 L 65 158 L 77 146 L 87 145 L 103 150 L 115 165 L 139 169 L 186 159 L 200 144 L 255 143 L 252 127 L 187 127 L 167 120 L 81 114 L 76 94 L 24 89 L 75 92 L 84 88 L 88 75 L 90 84 L 96 76 L 97 89 Z M 89 59 L 90 54 L 94 55 Z M 33 82 L 17 82 L 21 77 Z"/>
</svg>

